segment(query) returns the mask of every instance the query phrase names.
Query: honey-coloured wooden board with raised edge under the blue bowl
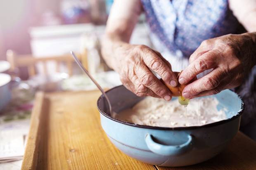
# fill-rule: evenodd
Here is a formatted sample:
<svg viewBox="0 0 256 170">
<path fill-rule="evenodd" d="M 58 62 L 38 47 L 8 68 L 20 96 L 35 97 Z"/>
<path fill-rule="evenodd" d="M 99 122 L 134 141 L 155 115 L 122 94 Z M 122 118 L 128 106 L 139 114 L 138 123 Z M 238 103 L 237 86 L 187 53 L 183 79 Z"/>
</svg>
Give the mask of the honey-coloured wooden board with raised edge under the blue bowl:
<svg viewBox="0 0 256 170">
<path fill-rule="evenodd" d="M 99 91 L 38 93 L 22 170 L 256 170 L 256 142 L 239 132 L 225 151 L 197 165 L 165 168 L 126 156 L 100 125 Z"/>
</svg>

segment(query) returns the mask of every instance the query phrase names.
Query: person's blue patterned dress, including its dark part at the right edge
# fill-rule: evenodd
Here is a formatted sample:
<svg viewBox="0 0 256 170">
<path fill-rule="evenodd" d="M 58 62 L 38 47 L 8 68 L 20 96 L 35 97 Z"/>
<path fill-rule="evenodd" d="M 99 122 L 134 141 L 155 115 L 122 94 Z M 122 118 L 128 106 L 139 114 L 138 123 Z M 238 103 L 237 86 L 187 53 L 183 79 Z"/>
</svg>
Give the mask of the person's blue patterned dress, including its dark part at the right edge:
<svg viewBox="0 0 256 170">
<path fill-rule="evenodd" d="M 229 9 L 228 0 L 141 0 L 153 44 L 171 63 L 173 71 L 180 71 L 188 64 L 188 58 L 203 40 L 241 29 Z M 166 52 L 167 51 L 167 52 Z M 202 73 L 199 77 L 204 76 Z M 247 106 L 241 123 L 246 125 L 250 136 L 256 140 L 256 66 L 246 76 L 244 83 L 235 89 Z M 245 131 L 244 131 L 245 132 Z"/>
</svg>

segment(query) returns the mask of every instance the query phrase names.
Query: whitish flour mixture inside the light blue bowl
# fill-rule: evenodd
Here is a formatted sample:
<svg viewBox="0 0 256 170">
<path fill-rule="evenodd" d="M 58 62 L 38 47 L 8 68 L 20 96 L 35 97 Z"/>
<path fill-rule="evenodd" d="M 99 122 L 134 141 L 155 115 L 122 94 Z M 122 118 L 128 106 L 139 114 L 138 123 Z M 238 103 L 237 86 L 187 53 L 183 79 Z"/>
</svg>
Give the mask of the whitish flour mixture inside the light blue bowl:
<svg viewBox="0 0 256 170">
<path fill-rule="evenodd" d="M 178 99 L 146 97 L 131 109 L 112 115 L 114 118 L 139 125 L 159 127 L 187 127 L 205 125 L 226 119 L 226 109 L 218 111 L 219 101 L 215 97 L 191 99 L 182 106 Z"/>
</svg>

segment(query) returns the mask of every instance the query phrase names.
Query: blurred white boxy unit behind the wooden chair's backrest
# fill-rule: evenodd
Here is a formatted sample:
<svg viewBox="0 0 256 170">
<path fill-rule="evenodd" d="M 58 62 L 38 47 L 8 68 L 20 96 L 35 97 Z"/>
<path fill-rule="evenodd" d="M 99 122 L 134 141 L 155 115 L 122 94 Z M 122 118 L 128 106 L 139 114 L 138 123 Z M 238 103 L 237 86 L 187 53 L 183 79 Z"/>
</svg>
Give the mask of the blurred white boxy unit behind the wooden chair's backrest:
<svg viewBox="0 0 256 170">
<path fill-rule="evenodd" d="M 71 50 L 82 53 L 81 49 L 85 49 L 82 47 L 83 34 L 93 30 L 92 24 L 33 27 L 30 29 L 32 54 L 34 57 L 50 57 L 67 54 Z M 47 63 L 47 71 L 56 72 L 55 62 Z M 66 67 L 61 66 L 60 71 L 67 72 Z M 38 72 L 43 73 L 41 64 L 38 64 Z"/>
</svg>

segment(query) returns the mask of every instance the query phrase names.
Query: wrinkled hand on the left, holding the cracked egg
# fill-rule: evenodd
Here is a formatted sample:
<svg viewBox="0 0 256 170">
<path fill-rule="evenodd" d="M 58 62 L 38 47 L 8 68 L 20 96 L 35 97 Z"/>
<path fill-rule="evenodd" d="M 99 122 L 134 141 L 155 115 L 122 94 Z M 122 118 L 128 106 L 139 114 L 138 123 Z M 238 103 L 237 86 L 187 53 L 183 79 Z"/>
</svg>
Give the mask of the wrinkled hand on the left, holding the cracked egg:
<svg viewBox="0 0 256 170">
<path fill-rule="evenodd" d="M 165 83 L 175 87 L 178 83 L 171 64 L 159 52 L 145 45 L 121 43 L 114 52 L 113 68 L 119 73 L 123 85 L 137 96 L 152 96 L 171 100 L 171 91 L 154 76 L 156 72 Z"/>
</svg>

